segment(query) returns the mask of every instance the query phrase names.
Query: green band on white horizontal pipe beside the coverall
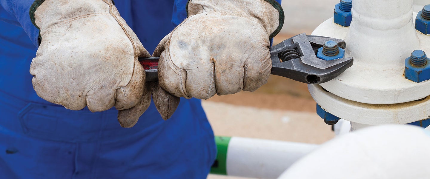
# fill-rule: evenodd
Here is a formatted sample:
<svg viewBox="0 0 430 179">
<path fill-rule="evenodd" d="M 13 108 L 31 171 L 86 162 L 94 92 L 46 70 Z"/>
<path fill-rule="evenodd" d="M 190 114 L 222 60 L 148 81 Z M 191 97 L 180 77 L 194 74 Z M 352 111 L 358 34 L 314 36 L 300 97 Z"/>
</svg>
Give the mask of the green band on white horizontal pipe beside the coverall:
<svg viewBox="0 0 430 179">
<path fill-rule="evenodd" d="M 215 143 L 217 147 L 217 156 L 214 164 L 212 164 L 212 174 L 227 175 L 227 149 L 231 137 L 215 136 Z"/>
</svg>

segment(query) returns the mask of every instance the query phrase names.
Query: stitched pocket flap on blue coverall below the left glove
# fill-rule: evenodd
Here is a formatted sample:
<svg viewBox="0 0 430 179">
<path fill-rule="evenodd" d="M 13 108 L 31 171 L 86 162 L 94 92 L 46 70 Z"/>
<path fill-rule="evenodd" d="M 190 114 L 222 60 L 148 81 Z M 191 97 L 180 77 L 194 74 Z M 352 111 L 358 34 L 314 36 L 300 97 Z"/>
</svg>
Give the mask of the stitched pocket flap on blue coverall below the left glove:
<svg viewBox="0 0 430 179">
<path fill-rule="evenodd" d="M 63 106 L 29 103 L 18 112 L 22 132 L 29 137 L 60 142 L 89 142 L 98 139 L 100 113 L 72 111 Z"/>
</svg>

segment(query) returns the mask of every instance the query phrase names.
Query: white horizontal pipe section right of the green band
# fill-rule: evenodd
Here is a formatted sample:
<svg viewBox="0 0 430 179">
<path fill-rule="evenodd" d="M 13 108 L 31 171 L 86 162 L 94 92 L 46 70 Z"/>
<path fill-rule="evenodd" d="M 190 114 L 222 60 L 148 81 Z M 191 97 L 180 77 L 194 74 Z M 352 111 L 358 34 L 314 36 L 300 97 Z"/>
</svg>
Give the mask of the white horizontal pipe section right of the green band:
<svg viewBox="0 0 430 179">
<path fill-rule="evenodd" d="M 276 179 L 316 144 L 232 137 L 227 150 L 227 174 Z"/>
</svg>

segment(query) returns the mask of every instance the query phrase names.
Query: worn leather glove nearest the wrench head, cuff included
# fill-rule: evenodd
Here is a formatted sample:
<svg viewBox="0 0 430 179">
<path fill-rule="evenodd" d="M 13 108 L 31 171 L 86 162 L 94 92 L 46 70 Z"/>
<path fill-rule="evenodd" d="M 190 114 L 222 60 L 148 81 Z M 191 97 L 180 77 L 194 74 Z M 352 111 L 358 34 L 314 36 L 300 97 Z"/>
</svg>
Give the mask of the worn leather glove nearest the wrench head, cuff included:
<svg viewBox="0 0 430 179">
<path fill-rule="evenodd" d="M 270 38 L 283 26 L 275 0 L 190 0 L 188 18 L 159 44 L 160 85 L 178 97 L 208 99 L 255 91 L 272 67 Z"/>
</svg>

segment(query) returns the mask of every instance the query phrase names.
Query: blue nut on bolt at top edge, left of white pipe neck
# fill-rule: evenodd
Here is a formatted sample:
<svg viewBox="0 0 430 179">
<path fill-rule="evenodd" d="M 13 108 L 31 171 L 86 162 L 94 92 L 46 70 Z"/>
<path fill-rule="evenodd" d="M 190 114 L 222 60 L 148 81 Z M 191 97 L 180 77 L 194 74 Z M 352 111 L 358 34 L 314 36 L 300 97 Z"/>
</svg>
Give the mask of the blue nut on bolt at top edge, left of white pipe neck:
<svg viewBox="0 0 430 179">
<path fill-rule="evenodd" d="M 344 27 L 349 27 L 352 21 L 351 8 L 352 0 L 341 0 L 340 3 L 336 4 L 333 15 L 335 23 Z"/>
</svg>

